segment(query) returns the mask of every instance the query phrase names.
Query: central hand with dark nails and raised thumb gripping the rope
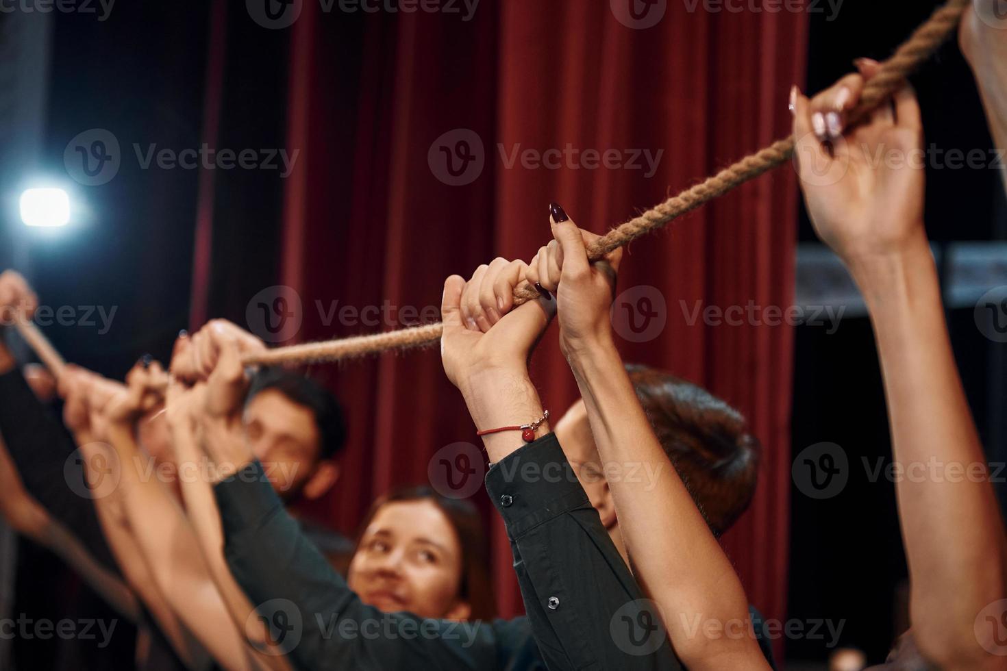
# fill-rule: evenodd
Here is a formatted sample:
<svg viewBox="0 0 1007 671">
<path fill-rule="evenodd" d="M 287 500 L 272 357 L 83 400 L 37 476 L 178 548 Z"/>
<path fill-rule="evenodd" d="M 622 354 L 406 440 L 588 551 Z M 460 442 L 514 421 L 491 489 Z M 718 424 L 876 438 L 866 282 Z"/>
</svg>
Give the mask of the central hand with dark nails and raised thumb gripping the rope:
<svg viewBox="0 0 1007 671">
<path fill-rule="evenodd" d="M 611 339 L 608 315 L 622 249 L 591 263 L 586 247 L 599 236 L 577 228 L 559 205 L 552 205 L 550 216 L 554 239 L 532 260 L 527 279 L 556 295 L 560 349 L 569 359 L 577 350 Z"/>
</svg>

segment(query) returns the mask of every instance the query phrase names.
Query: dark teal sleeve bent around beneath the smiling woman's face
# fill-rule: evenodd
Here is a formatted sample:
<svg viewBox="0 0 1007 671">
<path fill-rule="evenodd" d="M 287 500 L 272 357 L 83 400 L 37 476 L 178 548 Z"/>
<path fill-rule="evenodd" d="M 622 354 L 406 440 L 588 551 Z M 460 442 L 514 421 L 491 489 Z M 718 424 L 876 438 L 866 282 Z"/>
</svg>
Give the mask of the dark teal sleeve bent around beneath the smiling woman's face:
<svg viewBox="0 0 1007 671">
<path fill-rule="evenodd" d="M 534 659 L 514 664 L 534 649 L 527 622 L 456 623 L 362 603 L 284 509 L 259 462 L 213 491 L 228 565 L 297 668 L 536 668 Z"/>
</svg>

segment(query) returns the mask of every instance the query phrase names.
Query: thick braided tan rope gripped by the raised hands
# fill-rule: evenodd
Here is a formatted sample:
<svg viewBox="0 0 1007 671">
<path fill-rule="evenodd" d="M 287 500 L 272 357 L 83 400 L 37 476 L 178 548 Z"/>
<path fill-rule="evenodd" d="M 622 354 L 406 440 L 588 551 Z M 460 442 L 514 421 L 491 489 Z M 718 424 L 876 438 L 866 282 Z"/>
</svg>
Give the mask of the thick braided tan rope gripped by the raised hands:
<svg viewBox="0 0 1007 671">
<path fill-rule="evenodd" d="M 902 43 L 890 58 L 881 63 L 861 94 L 856 109 L 849 115 L 848 126 L 862 121 L 872 110 L 887 100 L 901 86 L 905 77 L 955 33 L 962 13 L 971 0 L 949 0 Z M 727 193 L 733 188 L 782 165 L 794 155 L 793 136 L 777 140 L 768 147 L 746 156 L 724 168 L 713 177 L 692 186 L 677 196 L 649 209 L 639 216 L 622 223 L 595 240 L 588 247 L 588 257 L 597 261 L 613 249 L 664 226 L 669 221 L 696 209 L 703 203 Z M 528 285 L 514 292 L 515 303 L 521 305 L 538 298 L 539 294 Z M 309 363 L 337 361 L 388 350 L 407 350 L 432 345 L 440 340 L 442 324 L 429 324 L 389 331 L 375 335 L 355 336 L 324 342 L 279 347 L 266 353 L 245 357 L 246 364 Z"/>
</svg>

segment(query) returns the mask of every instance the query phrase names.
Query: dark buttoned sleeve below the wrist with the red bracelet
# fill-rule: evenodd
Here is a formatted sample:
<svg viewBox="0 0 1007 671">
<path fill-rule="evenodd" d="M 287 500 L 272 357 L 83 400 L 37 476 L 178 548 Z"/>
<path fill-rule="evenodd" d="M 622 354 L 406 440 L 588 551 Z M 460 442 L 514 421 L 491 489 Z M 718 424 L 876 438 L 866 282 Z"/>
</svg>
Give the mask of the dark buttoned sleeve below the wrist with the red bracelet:
<svg viewBox="0 0 1007 671">
<path fill-rule="evenodd" d="M 552 671 L 682 668 L 555 435 L 493 465 L 486 491 Z"/>
</svg>

